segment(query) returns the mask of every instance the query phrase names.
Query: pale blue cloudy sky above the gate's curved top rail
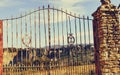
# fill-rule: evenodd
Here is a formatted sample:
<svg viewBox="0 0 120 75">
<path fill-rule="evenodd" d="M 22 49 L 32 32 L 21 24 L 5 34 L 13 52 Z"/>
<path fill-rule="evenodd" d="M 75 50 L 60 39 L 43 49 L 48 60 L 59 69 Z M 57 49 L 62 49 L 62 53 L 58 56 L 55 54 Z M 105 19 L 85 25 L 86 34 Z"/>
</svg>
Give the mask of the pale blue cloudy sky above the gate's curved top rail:
<svg viewBox="0 0 120 75">
<path fill-rule="evenodd" d="M 120 0 L 111 0 L 116 6 Z M 18 16 L 21 13 L 37 9 L 43 5 L 63 8 L 73 13 L 91 16 L 100 6 L 100 0 L 0 0 L 0 19 Z"/>
</svg>

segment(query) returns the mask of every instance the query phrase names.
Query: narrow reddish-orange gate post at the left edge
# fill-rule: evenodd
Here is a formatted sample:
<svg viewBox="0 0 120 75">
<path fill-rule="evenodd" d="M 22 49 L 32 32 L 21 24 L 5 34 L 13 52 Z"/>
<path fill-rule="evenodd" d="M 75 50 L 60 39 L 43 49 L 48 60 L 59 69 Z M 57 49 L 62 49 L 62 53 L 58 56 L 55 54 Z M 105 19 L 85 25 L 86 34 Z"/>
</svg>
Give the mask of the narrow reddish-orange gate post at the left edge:
<svg viewBox="0 0 120 75">
<path fill-rule="evenodd" d="M 3 69 L 3 21 L 0 20 L 0 75 Z"/>
</svg>

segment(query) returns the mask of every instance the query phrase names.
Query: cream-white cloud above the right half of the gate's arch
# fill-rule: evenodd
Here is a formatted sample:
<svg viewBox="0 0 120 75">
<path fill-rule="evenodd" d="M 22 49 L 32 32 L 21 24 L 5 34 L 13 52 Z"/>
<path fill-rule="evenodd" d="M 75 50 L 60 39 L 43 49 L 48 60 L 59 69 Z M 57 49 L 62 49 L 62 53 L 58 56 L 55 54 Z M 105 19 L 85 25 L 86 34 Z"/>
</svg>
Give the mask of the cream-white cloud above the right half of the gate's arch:
<svg viewBox="0 0 120 75">
<path fill-rule="evenodd" d="M 67 9 L 68 12 L 85 15 L 87 12 L 84 3 L 93 2 L 95 0 L 50 0 L 49 3 L 53 4 L 57 8 Z M 76 5 L 77 4 L 77 5 Z"/>
</svg>

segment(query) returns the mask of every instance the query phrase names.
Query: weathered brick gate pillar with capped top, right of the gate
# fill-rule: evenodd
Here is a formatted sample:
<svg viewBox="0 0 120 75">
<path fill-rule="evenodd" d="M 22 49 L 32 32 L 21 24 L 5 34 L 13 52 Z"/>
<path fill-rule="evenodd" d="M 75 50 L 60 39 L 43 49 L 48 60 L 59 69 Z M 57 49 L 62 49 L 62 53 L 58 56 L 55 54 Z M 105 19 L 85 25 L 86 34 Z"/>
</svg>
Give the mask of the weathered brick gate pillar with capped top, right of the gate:
<svg viewBox="0 0 120 75">
<path fill-rule="evenodd" d="M 92 14 L 96 75 L 120 75 L 120 10 L 110 0 Z"/>
</svg>

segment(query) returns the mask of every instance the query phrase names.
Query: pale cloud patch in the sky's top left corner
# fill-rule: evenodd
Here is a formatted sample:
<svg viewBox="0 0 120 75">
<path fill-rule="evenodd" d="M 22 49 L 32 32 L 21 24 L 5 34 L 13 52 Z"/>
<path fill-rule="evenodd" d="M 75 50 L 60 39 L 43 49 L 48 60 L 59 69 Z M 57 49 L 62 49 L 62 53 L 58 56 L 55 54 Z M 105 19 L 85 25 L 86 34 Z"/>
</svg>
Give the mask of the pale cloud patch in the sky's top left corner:
<svg viewBox="0 0 120 75">
<path fill-rule="evenodd" d="M 22 1 L 19 0 L 0 0 L 0 7 L 11 7 L 21 5 Z"/>
</svg>

